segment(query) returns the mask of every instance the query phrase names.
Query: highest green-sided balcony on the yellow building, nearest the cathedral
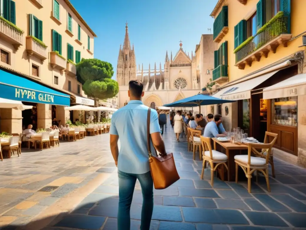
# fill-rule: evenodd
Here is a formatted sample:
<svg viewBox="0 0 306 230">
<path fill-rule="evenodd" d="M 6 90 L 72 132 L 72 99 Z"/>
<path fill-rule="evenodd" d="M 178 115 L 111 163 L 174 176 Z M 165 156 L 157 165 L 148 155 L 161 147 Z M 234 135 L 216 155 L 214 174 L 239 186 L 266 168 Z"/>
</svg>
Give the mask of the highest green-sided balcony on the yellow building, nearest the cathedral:
<svg viewBox="0 0 306 230">
<path fill-rule="evenodd" d="M 214 42 L 219 43 L 228 31 L 228 7 L 223 6 L 214 22 Z"/>
</svg>

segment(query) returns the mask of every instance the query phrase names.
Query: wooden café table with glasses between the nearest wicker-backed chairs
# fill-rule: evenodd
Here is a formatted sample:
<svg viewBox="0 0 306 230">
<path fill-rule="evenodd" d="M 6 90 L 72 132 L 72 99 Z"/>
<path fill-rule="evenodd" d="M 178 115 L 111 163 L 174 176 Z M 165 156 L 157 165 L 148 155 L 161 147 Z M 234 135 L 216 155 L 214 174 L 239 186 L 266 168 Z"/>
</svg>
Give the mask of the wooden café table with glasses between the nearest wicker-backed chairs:
<svg viewBox="0 0 306 230">
<path fill-rule="evenodd" d="M 248 150 L 248 145 L 241 143 L 241 144 L 232 144 L 230 143 L 230 141 L 218 141 L 217 138 L 212 138 L 212 140 L 214 141 L 214 149 L 217 151 L 220 151 L 220 146 L 222 147 L 222 150 L 225 149 L 225 154 L 228 157 L 228 161 L 227 161 L 227 167 L 229 168 L 229 174 L 230 174 L 230 181 L 235 181 L 235 160 L 234 160 L 234 156 L 235 155 L 240 155 L 241 152 L 243 150 Z M 217 145 L 218 143 L 218 145 Z M 219 149 L 217 149 L 217 148 Z M 220 152 L 222 152 L 222 150 Z M 245 153 L 247 154 L 247 152 Z M 227 176 L 225 176 L 226 174 L 226 168 L 223 167 L 218 167 L 218 174 L 220 175 L 220 178 L 224 181 L 225 178 L 227 178 Z M 241 175 L 245 175 L 245 174 L 241 174 Z M 245 177 L 245 176 L 244 176 Z M 239 177 L 239 178 L 244 178 L 243 176 Z"/>
</svg>

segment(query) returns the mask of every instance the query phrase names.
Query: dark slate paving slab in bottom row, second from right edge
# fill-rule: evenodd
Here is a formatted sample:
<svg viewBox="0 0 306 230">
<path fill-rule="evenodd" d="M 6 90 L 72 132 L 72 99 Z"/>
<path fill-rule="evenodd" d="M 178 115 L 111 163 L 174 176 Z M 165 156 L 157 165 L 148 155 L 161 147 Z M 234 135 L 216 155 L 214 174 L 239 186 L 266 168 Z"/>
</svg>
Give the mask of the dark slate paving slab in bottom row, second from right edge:
<svg viewBox="0 0 306 230">
<path fill-rule="evenodd" d="M 243 211 L 248 219 L 255 225 L 287 227 L 288 225 L 275 213 Z"/>
</svg>

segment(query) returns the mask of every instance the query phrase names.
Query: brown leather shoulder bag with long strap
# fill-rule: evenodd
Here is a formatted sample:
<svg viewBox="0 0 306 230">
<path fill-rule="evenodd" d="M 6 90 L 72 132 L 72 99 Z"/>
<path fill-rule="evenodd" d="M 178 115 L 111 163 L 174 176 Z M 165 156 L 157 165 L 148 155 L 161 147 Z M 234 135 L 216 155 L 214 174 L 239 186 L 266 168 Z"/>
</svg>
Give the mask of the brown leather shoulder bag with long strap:
<svg viewBox="0 0 306 230">
<path fill-rule="evenodd" d="M 156 149 L 153 156 L 151 153 L 151 135 L 150 135 L 150 116 L 151 108 L 147 114 L 147 145 L 149 151 L 149 165 L 155 189 L 165 189 L 180 179 L 177 173 L 174 157 L 172 153 L 166 155 L 157 154 Z"/>
</svg>

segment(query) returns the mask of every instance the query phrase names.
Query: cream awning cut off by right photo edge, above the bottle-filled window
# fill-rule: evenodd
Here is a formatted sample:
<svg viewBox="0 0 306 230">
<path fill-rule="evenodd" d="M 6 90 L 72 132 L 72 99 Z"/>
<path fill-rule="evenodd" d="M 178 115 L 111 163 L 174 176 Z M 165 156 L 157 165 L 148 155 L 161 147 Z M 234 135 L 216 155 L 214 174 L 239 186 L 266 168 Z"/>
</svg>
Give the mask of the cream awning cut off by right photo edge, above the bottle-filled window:
<svg viewBox="0 0 306 230">
<path fill-rule="evenodd" d="M 286 98 L 306 94 L 306 73 L 298 74 L 263 90 L 263 99 Z"/>
</svg>

